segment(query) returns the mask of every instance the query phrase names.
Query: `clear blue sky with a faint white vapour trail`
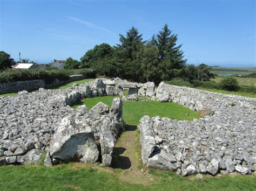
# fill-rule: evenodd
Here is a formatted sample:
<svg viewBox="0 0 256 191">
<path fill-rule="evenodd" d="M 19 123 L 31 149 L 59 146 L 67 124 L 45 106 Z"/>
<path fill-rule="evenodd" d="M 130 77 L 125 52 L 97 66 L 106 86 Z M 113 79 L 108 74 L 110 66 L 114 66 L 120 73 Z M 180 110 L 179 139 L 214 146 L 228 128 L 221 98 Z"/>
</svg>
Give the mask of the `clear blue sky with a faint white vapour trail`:
<svg viewBox="0 0 256 191">
<path fill-rule="evenodd" d="M 165 24 L 178 34 L 188 64 L 256 67 L 254 0 L 0 0 L 0 51 L 38 63 L 80 60 L 136 27 L 143 39 Z"/>
</svg>

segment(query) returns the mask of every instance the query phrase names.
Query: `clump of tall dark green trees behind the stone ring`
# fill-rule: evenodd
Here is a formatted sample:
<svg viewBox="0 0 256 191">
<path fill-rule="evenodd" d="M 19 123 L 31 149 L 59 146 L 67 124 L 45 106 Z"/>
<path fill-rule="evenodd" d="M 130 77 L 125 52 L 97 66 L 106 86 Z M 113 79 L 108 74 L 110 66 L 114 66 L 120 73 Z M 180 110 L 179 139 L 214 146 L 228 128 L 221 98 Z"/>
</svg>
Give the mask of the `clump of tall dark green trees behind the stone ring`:
<svg viewBox="0 0 256 191">
<path fill-rule="evenodd" d="M 119 35 L 114 47 L 103 43 L 87 51 L 81 58 L 81 67 L 93 68 L 97 75 L 121 77 L 137 82 L 170 81 L 175 77 L 192 80 L 209 80 L 213 77 L 210 67 L 186 65 L 177 34 L 167 25 L 156 36 L 144 41 L 138 29 L 132 27 L 126 35 Z M 199 75 L 199 76 L 198 76 Z"/>
</svg>

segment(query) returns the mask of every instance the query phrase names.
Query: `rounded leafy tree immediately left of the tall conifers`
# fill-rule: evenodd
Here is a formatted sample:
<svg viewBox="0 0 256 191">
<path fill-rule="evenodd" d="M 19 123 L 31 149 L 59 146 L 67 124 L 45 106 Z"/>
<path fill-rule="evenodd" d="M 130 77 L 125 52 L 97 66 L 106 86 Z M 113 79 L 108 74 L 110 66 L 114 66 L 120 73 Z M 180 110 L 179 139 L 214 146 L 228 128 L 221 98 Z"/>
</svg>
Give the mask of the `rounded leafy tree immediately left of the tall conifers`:
<svg viewBox="0 0 256 191">
<path fill-rule="evenodd" d="M 87 51 L 82 58 L 82 67 L 89 68 L 94 61 L 104 58 L 111 58 L 113 55 L 113 47 L 107 43 L 96 45 L 93 49 Z"/>
</svg>

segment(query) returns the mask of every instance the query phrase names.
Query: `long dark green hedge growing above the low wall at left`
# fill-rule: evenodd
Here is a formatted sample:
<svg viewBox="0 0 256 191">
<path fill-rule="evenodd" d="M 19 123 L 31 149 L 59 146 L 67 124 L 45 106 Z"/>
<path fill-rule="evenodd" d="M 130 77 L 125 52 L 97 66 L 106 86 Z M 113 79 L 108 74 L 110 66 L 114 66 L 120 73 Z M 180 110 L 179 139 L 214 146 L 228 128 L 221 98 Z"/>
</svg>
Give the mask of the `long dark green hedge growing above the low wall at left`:
<svg viewBox="0 0 256 191">
<path fill-rule="evenodd" d="M 76 69 L 76 70 L 47 70 L 47 69 L 6 69 L 0 73 L 0 82 L 13 82 L 24 80 L 42 79 L 46 83 L 51 83 L 55 79 L 66 81 L 69 75 L 82 74 L 85 78 L 96 77 L 93 69 Z"/>
</svg>

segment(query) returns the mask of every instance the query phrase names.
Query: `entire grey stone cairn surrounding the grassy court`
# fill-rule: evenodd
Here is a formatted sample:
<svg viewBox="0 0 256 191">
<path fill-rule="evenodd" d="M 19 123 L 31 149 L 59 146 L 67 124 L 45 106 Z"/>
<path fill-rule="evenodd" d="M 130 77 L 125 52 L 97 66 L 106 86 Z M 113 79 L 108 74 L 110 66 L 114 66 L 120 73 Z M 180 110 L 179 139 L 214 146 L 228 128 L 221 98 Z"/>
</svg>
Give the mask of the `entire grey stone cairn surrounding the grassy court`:
<svg viewBox="0 0 256 191">
<path fill-rule="evenodd" d="M 129 91 L 124 96 L 124 90 Z M 138 126 L 143 164 L 183 176 L 237 171 L 250 174 L 256 164 L 256 99 L 223 95 L 161 82 L 132 83 L 119 78 L 97 79 L 65 90 L 45 90 L 0 97 L 0 166 L 45 166 L 82 161 L 111 164 L 114 143 L 124 130 L 122 104 L 109 109 L 99 102 L 90 111 L 70 105 L 82 98 L 123 96 L 124 101 L 174 102 L 201 118 L 176 121 L 144 116 Z M 147 96 L 147 97 L 137 97 Z M 46 153 L 42 159 L 43 153 Z"/>
</svg>

